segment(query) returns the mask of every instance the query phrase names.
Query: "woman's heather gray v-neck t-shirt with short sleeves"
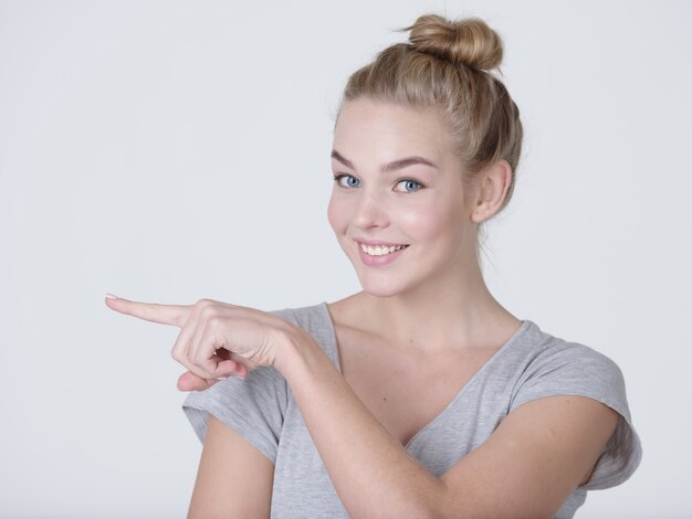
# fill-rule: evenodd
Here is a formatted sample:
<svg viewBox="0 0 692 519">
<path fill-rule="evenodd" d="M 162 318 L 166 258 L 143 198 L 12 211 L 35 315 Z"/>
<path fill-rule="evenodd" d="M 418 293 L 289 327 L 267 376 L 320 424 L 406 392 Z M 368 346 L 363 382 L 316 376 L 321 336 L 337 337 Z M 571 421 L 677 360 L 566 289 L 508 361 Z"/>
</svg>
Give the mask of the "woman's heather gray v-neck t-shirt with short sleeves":
<svg viewBox="0 0 692 519">
<path fill-rule="evenodd" d="M 274 310 L 308 331 L 339 368 L 327 304 Z M 625 380 L 608 357 L 578 342 L 551 336 L 525 319 L 507 342 L 466 382 L 406 449 L 431 474 L 441 476 L 481 445 L 515 407 L 543 396 L 572 394 L 595 399 L 620 413 L 590 480 L 575 489 L 556 518 L 572 518 L 587 490 L 621 484 L 641 460 Z M 305 426 L 291 388 L 279 371 L 260 368 L 241 379 L 190 392 L 182 409 L 201 442 L 209 413 L 274 463 L 272 518 L 347 518 Z"/>
</svg>

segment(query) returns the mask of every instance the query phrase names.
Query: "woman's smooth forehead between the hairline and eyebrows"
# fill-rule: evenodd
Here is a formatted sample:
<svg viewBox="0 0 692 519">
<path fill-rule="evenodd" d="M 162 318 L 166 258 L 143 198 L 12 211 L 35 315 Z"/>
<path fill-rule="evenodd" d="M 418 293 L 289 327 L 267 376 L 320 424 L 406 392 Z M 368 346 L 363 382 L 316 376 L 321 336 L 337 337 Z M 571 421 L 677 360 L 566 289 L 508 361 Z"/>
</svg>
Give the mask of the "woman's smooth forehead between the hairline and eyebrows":
<svg viewBox="0 0 692 519">
<path fill-rule="evenodd" d="M 368 155 L 394 160 L 421 155 L 443 161 L 448 131 L 431 108 L 356 99 L 344 104 L 334 129 L 334 147 L 347 157 Z"/>
</svg>

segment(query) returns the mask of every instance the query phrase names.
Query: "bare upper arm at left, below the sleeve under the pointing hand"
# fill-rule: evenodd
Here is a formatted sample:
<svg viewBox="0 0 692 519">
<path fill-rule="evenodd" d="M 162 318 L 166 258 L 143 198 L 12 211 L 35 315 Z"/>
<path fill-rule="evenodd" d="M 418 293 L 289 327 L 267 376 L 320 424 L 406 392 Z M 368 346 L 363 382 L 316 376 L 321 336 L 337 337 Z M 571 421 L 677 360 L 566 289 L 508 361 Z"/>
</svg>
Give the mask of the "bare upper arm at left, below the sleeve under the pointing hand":
<svg viewBox="0 0 692 519">
<path fill-rule="evenodd" d="M 269 517 L 274 464 L 209 415 L 188 519 Z"/>
</svg>

